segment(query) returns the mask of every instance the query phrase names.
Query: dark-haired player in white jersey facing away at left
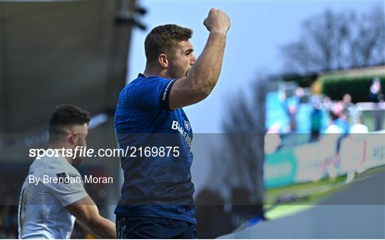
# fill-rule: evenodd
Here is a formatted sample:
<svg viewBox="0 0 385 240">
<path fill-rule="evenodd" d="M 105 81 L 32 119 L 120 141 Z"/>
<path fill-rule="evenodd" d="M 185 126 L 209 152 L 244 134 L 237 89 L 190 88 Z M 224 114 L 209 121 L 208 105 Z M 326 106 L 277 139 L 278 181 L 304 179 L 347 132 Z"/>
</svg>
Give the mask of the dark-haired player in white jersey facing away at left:
<svg viewBox="0 0 385 240">
<path fill-rule="evenodd" d="M 80 108 L 59 106 L 49 122 L 48 149 L 85 147 L 89 120 L 88 113 Z M 83 181 L 68 181 L 70 177 L 81 179 L 73 167 L 80 162 L 81 157 L 63 155 L 34 160 L 21 189 L 19 239 L 69 239 L 75 219 L 95 236 L 116 238 L 115 224 L 99 215 L 98 207 L 83 187 Z M 44 182 L 44 176 L 46 179 L 51 177 L 51 182 Z M 53 182 L 55 177 L 61 181 Z"/>
</svg>

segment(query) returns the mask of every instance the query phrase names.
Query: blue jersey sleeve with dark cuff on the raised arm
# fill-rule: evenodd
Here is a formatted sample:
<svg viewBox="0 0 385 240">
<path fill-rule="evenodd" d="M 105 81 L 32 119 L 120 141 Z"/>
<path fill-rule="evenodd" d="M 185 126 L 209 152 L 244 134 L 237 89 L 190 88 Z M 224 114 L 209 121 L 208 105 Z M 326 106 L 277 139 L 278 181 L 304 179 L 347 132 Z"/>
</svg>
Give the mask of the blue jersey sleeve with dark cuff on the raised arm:
<svg viewBox="0 0 385 240">
<path fill-rule="evenodd" d="M 176 79 L 144 78 L 127 89 L 128 104 L 137 109 L 170 110 L 170 90 Z"/>
</svg>

